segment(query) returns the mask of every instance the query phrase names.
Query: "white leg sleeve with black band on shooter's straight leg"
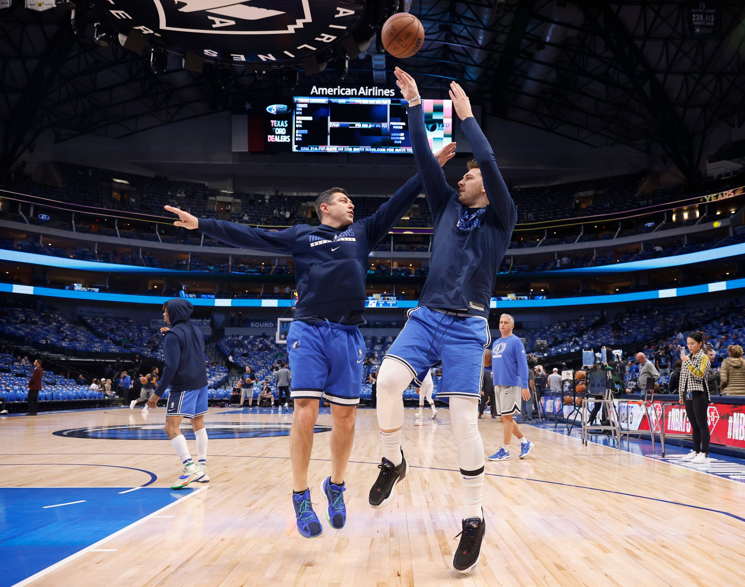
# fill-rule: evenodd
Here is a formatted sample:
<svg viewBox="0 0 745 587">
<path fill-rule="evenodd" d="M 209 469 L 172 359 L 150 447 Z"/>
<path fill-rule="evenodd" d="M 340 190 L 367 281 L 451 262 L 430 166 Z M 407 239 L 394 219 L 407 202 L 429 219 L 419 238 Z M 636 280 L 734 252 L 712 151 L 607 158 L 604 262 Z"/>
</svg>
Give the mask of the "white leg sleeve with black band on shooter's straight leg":
<svg viewBox="0 0 745 587">
<path fill-rule="evenodd" d="M 450 419 L 457 442 L 458 466 L 463 477 L 463 519 L 482 518 L 484 442 L 478 431 L 478 398 L 451 397 Z"/>
</svg>

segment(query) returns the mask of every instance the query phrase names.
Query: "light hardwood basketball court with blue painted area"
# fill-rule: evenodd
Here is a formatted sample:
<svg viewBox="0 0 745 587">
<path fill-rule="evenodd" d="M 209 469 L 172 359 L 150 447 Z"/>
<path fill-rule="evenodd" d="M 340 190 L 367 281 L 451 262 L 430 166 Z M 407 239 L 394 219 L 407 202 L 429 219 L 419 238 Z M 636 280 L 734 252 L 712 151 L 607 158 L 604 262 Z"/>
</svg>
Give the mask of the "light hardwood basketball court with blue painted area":
<svg viewBox="0 0 745 587">
<path fill-rule="evenodd" d="M 183 492 L 168 489 L 179 473 L 171 444 L 148 440 L 159 438 L 161 408 L 1 419 L 0 549 L 10 571 L 0 585 L 743 584 L 743 483 L 535 427 L 525 428 L 530 457 L 518 460 L 513 446 L 510 461 L 487 461 L 481 562 L 458 574 L 463 488 L 449 413 L 413 413 L 403 442 L 410 473 L 395 500 L 373 510 L 378 428 L 374 410 L 358 411 L 346 527 L 323 521 L 317 539 L 295 528 L 287 413 L 210 410 L 211 482 Z M 331 416 L 318 423 L 309 479 L 323 518 Z M 488 416 L 479 425 L 491 454 L 502 426 Z"/>
</svg>

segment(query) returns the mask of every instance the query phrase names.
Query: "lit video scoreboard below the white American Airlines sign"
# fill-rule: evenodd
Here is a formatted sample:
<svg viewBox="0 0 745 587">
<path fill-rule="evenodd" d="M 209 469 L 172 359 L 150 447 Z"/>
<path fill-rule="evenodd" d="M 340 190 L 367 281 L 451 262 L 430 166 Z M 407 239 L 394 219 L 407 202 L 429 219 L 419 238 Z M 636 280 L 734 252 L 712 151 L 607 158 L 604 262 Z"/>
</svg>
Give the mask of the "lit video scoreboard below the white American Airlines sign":
<svg viewBox="0 0 745 587">
<path fill-rule="evenodd" d="M 451 100 L 423 100 L 432 150 L 453 140 Z M 233 108 L 233 150 L 411 153 L 406 102 L 396 98 L 285 98 Z M 246 112 L 243 114 L 243 110 Z"/>
</svg>

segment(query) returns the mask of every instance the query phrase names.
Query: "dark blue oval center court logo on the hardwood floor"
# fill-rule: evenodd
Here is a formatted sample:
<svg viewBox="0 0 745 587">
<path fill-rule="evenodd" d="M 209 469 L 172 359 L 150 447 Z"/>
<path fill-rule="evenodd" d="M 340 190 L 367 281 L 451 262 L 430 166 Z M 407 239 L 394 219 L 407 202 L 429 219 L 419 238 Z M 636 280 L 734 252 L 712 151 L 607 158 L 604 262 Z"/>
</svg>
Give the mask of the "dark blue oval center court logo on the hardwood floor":
<svg viewBox="0 0 745 587">
<path fill-rule="evenodd" d="M 290 422 L 205 422 L 207 435 L 212 439 L 226 438 L 265 438 L 286 437 L 290 434 Z M 329 432 L 331 426 L 316 425 L 315 433 Z M 184 420 L 182 434 L 194 439 L 191 425 Z M 162 424 L 139 424 L 118 426 L 92 426 L 90 428 L 69 428 L 53 432 L 55 436 L 66 438 L 89 438 L 98 440 L 168 440 Z"/>
</svg>

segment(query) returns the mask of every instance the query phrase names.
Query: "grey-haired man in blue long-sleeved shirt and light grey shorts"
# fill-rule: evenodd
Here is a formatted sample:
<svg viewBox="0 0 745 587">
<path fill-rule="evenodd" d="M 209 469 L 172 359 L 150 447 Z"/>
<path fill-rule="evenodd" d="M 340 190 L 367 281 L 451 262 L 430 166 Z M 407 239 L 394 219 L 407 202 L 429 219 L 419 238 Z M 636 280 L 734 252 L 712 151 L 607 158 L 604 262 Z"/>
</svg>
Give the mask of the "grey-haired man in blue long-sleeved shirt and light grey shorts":
<svg viewBox="0 0 745 587">
<path fill-rule="evenodd" d="M 509 460 L 510 440 L 513 432 L 520 441 L 520 457 L 524 459 L 533 449 L 533 442 L 526 440 L 514 420 L 520 413 L 521 399 L 530 399 L 530 373 L 527 367 L 525 346 L 513 334 L 515 319 L 510 314 L 499 317 L 499 332 L 502 337 L 492 346 L 492 373 L 497 409 L 504 422 L 504 443 L 489 457 L 489 460 Z"/>
</svg>

